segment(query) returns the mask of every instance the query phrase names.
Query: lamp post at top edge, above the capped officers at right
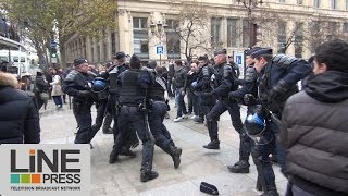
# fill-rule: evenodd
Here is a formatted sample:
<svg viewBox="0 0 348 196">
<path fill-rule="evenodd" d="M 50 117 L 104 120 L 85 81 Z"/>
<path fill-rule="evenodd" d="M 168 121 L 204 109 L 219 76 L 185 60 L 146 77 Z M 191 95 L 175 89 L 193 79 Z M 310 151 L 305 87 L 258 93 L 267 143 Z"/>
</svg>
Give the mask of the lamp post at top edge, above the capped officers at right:
<svg viewBox="0 0 348 196">
<path fill-rule="evenodd" d="M 258 25 L 252 23 L 252 10 L 263 4 L 262 0 L 237 0 L 238 4 L 243 4 L 248 12 L 248 29 L 249 29 L 249 48 L 257 44 Z"/>
</svg>

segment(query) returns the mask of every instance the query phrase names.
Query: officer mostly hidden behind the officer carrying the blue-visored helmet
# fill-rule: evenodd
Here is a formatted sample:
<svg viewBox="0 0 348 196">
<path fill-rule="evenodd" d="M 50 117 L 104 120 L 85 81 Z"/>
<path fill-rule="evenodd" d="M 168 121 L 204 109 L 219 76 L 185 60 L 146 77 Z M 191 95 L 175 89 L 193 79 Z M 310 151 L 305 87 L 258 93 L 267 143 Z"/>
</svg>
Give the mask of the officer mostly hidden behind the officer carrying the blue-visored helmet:
<svg viewBox="0 0 348 196">
<path fill-rule="evenodd" d="M 231 91 L 228 94 L 228 99 L 231 101 L 237 100 L 238 102 L 244 101 L 244 97 L 247 95 L 252 95 L 253 97 L 258 96 L 258 85 L 257 79 L 258 75 L 253 68 L 253 58 L 251 53 L 261 49 L 260 47 L 254 47 L 246 51 L 246 64 L 247 70 L 245 74 L 244 85 L 241 88 Z M 247 100 L 247 98 L 246 98 Z M 250 105 L 249 102 L 244 102 L 248 106 L 247 115 L 251 114 L 254 105 Z M 239 134 L 240 143 L 239 143 L 239 161 L 236 162 L 234 166 L 228 166 L 227 169 L 233 173 L 249 173 L 249 157 L 251 152 L 251 147 L 253 146 L 252 139 L 247 135 L 245 127 L 243 132 Z"/>
</svg>

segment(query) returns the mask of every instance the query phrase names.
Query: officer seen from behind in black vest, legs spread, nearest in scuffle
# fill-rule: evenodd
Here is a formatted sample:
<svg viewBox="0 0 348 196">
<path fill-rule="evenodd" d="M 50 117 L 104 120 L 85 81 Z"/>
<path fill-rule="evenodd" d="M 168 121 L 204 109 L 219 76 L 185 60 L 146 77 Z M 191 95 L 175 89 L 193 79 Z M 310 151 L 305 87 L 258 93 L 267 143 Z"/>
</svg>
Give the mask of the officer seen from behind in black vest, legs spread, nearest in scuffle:
<svg viewBox="0 0 348 196">
<path fill-rule="evenodd" d="M 152 171 L 153 142 L 146 122 L 147 112 L 147 88 L 151 84 L 151 77 L 146 71 L 141 71 L 140 59 L 133 54 L 130 58 L 130 69 L 120 75 L 120 127 L 132 126 L 142 142 L 142 162 L 140 181 L 147 182 L 158 177 L 158 173 Z M 117 160 L 121 151 L 122 140 L 127 134 L 127 130 L 120 128 L 115 145 L 110 157 Z"/>
</svg>

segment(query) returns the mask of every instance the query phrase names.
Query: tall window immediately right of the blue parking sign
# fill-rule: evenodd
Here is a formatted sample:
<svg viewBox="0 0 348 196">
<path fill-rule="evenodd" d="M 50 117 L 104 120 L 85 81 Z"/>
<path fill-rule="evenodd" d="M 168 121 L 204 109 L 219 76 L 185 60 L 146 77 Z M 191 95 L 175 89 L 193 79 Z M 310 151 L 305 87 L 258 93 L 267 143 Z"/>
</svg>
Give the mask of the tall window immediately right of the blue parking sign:
<svg viewBox="0 0 348 196">
<path fill-rule="evenodd" d="M 181 33 L 179 23 L 175 20 L 166 20 L 166 53 L 169 59 L 181 58 Z"/>
</svg>

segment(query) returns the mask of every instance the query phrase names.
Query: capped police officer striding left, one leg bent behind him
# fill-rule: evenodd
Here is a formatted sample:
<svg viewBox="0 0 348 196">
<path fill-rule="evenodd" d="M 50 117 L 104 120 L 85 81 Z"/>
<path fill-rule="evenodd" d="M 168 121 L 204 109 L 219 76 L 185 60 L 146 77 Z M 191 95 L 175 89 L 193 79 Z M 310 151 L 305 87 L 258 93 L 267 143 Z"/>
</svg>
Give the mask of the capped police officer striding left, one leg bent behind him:
<svg viewBox="0 0 348 196">
<path fill-rule="evenodd" d="M 208 93 L 213 95 L 217 99 L 215 106 L 207 115 L 207 125 L 211 142 L 204 145 L 208 149 L 220 149 L 220 140 L 217 136 L 217 121 L 220 115 L 228 111 L 232 120 L 232 124 L 238 133 L 243 131 L 243 123 L 240 120 L 240 111 L 237 101 L 228 100 L 228 93 L 236 90 L 238 85 L 236 84 L 235 72 L 232 66 L 226 63 L 226 50 L 217 50 L 214 52 L 214 74 L 211 76 L 213 90 Z"/>
</svg>

